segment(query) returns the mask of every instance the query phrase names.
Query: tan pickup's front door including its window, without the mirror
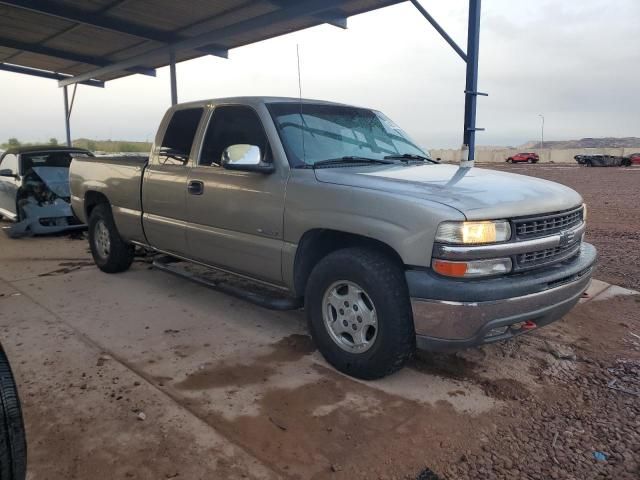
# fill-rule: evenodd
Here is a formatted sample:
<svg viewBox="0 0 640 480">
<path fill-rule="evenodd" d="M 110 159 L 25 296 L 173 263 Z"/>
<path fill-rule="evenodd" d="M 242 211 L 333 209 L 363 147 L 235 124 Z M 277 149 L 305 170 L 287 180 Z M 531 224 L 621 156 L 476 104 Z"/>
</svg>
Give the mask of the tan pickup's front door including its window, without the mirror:
<svg viewBox="0 0 640 480">
<path fill-rule="evenodd" d="M 247 129 L 247 137 L 237 130 L 238 126 L 233 127 L 233 118 L 221 120 L 224 109 L 228 115 L 234 108 L 244 109 L 243 115 L 253 122 Z M 224 138 L 210 148 L 207 138 L 214 130 L 216 114 L 220 115 L 218 125 L 231 133 L 223 135 Z M 259 114 L 246 106 L 225 105 L 214 109 L 204 135 L 200 164 L 189 174 L 189 182 L 201 182 L 202 191 L 187 195 L 187 242 L 194 260 L 280 284 L 287 172 L 284 169 L 276 169 L 271 174 L 227 170 L 218 163 L 223 146 L 254 143 L 252 135 L 258 128 L 264 135 L 260 140 L 264 144 L 259 146 L 265 155 L 270 154 L 261 122 Z M 211 152 L 211 156 L 207 157 L 206 152 Z"/>
</svg>

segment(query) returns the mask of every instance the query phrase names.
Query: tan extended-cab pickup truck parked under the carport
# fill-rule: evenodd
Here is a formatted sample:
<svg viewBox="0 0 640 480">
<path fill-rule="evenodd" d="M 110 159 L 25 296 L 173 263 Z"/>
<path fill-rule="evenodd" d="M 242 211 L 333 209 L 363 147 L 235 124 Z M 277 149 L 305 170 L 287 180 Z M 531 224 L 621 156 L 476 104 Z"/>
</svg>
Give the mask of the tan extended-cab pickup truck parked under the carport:
<svg viewBox="0 0 640 480">
<path fill-rule="evenodd" d="M 148 158 L 74 159 L 70 185 L 103 271 L 141 246 L 266 283 L 304 306 L 329 363 L 364 379 L 416 348 L 561 318 L 596 261 L 575 191 L 439 164 L 382 113 L 336 103 L 177 105 Z"/>
</svg>

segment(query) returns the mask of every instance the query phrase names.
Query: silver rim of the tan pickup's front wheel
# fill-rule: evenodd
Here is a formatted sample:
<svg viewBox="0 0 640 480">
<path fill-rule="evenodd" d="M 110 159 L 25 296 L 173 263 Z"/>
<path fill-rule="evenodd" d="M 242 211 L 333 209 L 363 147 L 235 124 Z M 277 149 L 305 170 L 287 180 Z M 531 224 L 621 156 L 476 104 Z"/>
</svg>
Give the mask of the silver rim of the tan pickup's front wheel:
<svg viewBox="0 0 640 480">
<path fill-rule="evenodd" d="M 322 298 L 322 318 L 329 336 L 342 350 L 363 353 L 378 336 L 378 316 L 371 298 L 356 283 L 334 282 Z"/>
</svg>

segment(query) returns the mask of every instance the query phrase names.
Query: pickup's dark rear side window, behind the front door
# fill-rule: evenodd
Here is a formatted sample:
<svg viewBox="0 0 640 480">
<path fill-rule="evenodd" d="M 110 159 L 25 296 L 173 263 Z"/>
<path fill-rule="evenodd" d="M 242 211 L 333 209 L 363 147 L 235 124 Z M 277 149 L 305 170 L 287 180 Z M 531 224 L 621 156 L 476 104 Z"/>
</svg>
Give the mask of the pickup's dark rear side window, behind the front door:
<svg viewBox="0 0 640 480">
<path fill-rule="evenodd" d="M 185 165 L 188 162 L 203 112 L 203 108 L 186 108 L 173 114 L 158 152 L 161 164 Z"/>
</svg>

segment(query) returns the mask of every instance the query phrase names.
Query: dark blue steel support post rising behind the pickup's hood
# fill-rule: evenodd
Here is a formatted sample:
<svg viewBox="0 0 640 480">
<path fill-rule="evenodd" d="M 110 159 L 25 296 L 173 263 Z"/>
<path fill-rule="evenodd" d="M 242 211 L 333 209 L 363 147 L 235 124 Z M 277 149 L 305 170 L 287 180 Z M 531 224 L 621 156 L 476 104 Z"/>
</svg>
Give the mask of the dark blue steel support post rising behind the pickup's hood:
<svg viewBox="0 0 640 480">
<path fill-rule="evenodd" d="M 467 81 L 464 100 L 463 152 L 461 166 L 473 167 L 476 148 L 476 105 L 478 100 L 478 54 L 480 45 L 481 0 L 469 0 L 469 28 L 467 36 Z"/>
</svg>

